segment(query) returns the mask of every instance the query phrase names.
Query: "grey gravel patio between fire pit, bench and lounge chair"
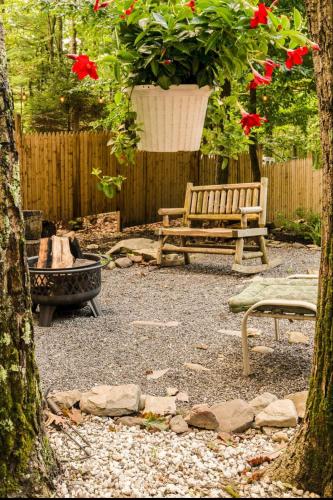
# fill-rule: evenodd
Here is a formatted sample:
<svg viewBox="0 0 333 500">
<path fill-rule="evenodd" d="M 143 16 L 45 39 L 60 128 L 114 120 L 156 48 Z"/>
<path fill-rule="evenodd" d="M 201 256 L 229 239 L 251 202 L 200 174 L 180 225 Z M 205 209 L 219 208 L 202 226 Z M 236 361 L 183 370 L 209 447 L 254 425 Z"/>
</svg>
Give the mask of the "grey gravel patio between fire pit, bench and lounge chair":
<svg viewBox="0 0 333 500">
<path fill-rule="evenodd" d="M 307 272 L 319 266 L 319 252 L 307 248 L 270 248 L 283 264 L 269 276 Z M 242 376 L 240 339 L 219 333 L 239 330 L 241 315 L 230 313 L 227 301 L 251 277 L 230 271 L 232 260 L 197 256 L 187 268 L 133 266 L 103 271 L 102 316 L 88 308 L 56 317 L 51 328 L 36 328 L 37 358 L 44 388 L 90 389 L 97 384 L 137 383 L 143 392 L 165 395 L 167 387 L 187 391 L 190 404 L 233 398 L 252 399 L 269 391 L 283 397 L 304 390 L 313 347 L 312 322 L 282 323 L 283 340 L 275 342 L 273 321 L 253 318 L 262 330 L 252 346 L 274 348 L 273 354 L 251 353 L 254 375 Z M 134 327 L 132 321 L 176 321 L 173 327 Z M 289 345 L 286 332 L 302 331 L 310 345 Z M 207 350 L 197 349 L 206 344 Z M 184 363 L 210 369 L 194 372 Z M 155 381 L 150 370 L 170 371 Z M 157 438 L 156 438 L 157 439 Z"/>
</svg>

